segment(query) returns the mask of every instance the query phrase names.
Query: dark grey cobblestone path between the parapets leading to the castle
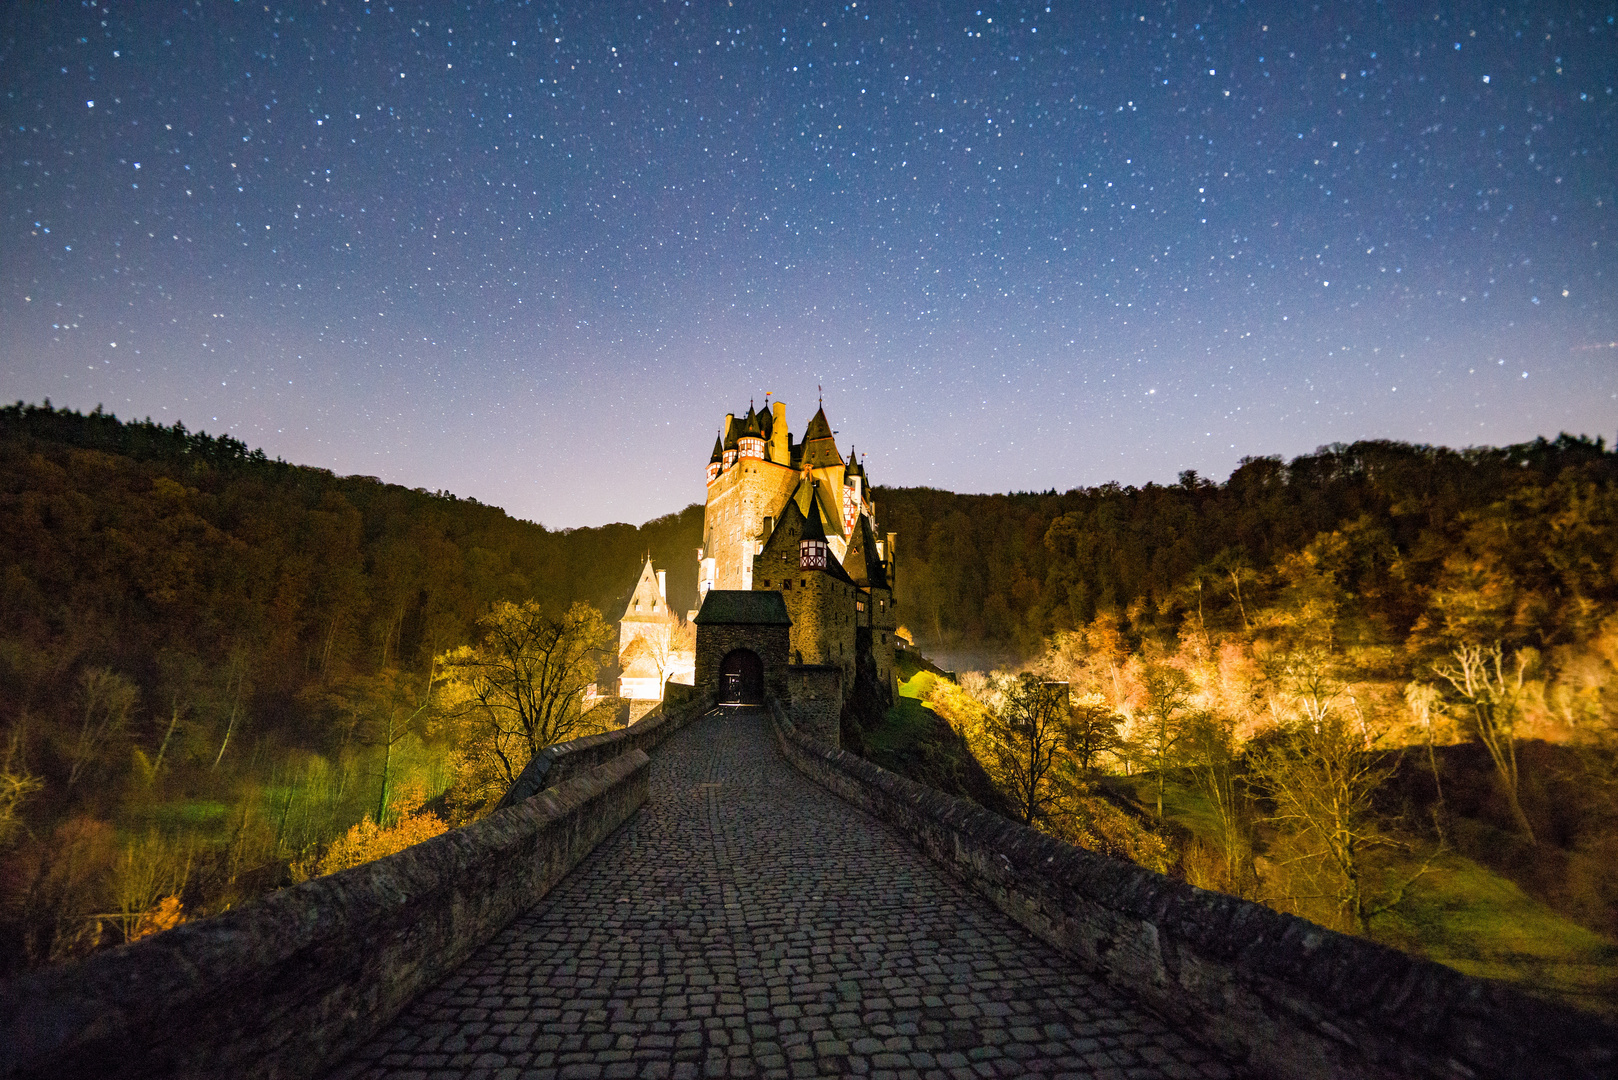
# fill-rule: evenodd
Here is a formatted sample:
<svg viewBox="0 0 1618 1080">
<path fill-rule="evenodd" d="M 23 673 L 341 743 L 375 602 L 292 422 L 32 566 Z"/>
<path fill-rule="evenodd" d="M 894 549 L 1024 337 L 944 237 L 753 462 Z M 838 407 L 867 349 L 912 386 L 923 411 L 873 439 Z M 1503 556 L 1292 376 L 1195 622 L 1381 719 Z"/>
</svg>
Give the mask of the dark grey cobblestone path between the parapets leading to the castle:
<svg viewBox="0 0 1618 1080">
<path fill-rule="evenodd" d="M 335 1075 L 1231 1075 L 765 724 L 710 712 L 663 743 L 629 824 Z"/>
</svg>

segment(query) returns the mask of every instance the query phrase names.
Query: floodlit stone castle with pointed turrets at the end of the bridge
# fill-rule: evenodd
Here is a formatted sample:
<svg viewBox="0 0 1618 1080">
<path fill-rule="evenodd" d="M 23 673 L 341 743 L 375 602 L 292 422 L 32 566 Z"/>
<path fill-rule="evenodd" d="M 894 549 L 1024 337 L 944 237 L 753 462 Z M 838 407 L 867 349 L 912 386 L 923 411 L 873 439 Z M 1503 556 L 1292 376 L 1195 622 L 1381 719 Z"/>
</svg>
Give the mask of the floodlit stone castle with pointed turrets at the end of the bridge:
<svg viewBox="0 0 1618 1080">
<path fill-rule="evenodd" d="M 760 699 L 765 685 L 786 695 L 793 675 L 822 696 L 835 685 L 848 701 L 864 674 L 890 699 L 893 542 L 877 528 L 864 466 L 837 449 L 824 405 L 803 440 L 793 439 L 781 402 L 726 415 L 707 465 L 697 549 L 697 690 Z M 662 591 L 647 588 L 652 573 L 647 562 L 625 610 L 626 644 L 631 620 L 655 614 L 647 609 Z M 667 617 L 667 601 L 662 609 Z M 735 648 L 720 654 L 718 643 Z"/>
</svg>

